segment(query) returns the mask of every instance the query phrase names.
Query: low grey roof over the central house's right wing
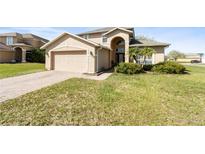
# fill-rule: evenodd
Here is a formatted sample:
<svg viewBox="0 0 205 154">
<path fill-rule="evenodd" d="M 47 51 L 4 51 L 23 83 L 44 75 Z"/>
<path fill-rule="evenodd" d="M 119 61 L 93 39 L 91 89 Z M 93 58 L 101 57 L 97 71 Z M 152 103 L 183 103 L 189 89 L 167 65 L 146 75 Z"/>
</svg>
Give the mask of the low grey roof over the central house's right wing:
<svg viewBox="0 0 205 154">
<path fill-rule="evenodd" d="M 152 46 L 163 46 L 168 47 L 170 44 L 158 42 L 152 39 L 142 38 L 142 39 L 135 39 L 130 42 L 130 47 L 152 47 Z"/>
</svg>

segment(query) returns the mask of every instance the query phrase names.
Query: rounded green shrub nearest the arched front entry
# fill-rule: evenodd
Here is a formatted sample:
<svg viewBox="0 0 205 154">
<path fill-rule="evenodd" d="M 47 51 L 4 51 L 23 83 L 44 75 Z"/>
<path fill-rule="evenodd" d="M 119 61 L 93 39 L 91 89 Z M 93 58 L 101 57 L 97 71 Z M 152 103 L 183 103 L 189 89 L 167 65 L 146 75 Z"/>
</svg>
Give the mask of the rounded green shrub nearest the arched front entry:
<svg viewBox="0 0 205 154">
<path fill-rule="evenodd" d="M 138 74 L 142 73 L 142 66 L 134 63 L 120 63 L 115 67 L 115 72 L 124 74 Z"/>
</svg>

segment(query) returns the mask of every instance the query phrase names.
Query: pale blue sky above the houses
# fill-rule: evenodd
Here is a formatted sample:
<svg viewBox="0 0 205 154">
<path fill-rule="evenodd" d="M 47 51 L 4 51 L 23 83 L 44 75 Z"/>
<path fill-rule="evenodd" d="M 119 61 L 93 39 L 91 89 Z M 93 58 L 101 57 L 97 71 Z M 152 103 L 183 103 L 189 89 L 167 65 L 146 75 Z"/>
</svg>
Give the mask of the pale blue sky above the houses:
<svg viewBox="0 0 205 154">
<path fill-rule="evenodd" d="M 62 32 L 81 33 L 95 29 L 94 27 L 12 27 L 0 28 L 0 33 L 18 32 L 33 33 L 49 40 L 55 38 Z M 169 27 L 136 27 L 136 36 L 146 36 L 157 41 L 170 43 L 171 46 L 166 49 L 179 50 L 185 53 L 203 52 L 205 53 L 205 28 L 169 28 Z"/>
</svg>

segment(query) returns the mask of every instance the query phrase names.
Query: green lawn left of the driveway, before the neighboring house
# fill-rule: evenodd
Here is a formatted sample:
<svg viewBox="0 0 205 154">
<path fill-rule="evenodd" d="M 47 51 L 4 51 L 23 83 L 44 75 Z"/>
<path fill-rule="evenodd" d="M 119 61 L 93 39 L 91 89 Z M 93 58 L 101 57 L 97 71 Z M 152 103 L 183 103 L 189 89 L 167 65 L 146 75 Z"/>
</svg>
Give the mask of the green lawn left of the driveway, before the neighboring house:
<svg viewBox="0 0 205 154">
<path fill-rule="evenodd" d="M 39 63 L 0 64 L 0 79 L 44 70 L 44 64 Z"/>
</svg>

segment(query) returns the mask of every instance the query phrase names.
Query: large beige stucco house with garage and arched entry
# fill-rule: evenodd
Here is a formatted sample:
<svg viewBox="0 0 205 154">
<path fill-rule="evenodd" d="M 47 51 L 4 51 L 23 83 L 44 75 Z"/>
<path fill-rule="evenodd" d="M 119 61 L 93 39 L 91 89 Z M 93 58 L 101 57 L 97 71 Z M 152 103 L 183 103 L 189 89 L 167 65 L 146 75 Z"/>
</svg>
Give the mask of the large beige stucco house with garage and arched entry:
<svg viewBox="0 0 205 154">
<path fill-rule="evenodd" d="M 120 62 L 129 62 L 130 47 L 152 47 L 152 64 L 164 61 L 169 44 L 135 39 L 134 28 L 101 28 L 78 35 L 63 33 L 45 44 L 46 68 L 80 73 L 96 73 Z"/>
</svg>

